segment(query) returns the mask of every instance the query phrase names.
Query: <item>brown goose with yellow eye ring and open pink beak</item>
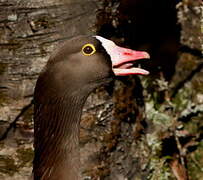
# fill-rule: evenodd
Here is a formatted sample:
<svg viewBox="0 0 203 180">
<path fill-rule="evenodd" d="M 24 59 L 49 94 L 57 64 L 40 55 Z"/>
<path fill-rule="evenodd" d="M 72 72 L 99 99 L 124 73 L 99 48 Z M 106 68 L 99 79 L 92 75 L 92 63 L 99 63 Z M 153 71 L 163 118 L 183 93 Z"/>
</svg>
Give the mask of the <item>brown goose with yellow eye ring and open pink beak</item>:
<svg viewBox="0 0 203 180">
<path fill-rule="evenodd" d="M 34 180 L 80 180 L 79 128 L 83 105 L 115 76 L 147 75 L 133 61 L 144 51 L 101 36 L 77 36 L 54 51 L 34 90 Z"/>
</svg>

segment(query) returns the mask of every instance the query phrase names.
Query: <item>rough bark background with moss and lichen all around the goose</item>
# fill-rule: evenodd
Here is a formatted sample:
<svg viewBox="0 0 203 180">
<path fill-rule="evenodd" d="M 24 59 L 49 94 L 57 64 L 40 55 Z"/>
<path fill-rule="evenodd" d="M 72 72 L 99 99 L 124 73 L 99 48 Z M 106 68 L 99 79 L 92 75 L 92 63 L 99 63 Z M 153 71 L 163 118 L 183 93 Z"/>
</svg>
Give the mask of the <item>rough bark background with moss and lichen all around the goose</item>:
<svg viewBox="0 0 203 180">
<path fill-rule="evenodd" d="M 177 9 L 171 0 L 101 2 L 0 0 L 0 179 L 31 173 L 31 100 L 50 52 L 67 38 L 98 31 L 149 51 L 151 76 L 120 78 L 88 98 L 80 130 L 83 179 L 202 180 L 202 2 L 183 0 Z"/>
</svg>

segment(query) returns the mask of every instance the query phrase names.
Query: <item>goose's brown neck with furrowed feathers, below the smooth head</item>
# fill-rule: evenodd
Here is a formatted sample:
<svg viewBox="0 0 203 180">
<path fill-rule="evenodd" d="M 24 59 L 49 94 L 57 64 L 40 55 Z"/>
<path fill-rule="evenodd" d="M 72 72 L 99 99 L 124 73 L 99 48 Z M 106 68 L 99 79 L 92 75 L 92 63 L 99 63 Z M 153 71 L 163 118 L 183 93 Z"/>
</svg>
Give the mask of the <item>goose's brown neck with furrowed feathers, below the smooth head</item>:
<svg viewBox="0 0 203 180">
<path fill-rule="evenodd" d="M 67 96 L 39 107 L 41 113 L 35 118 L 34 180 L 80 179 L 79 127 L 85 100 Z"/>
</svg>

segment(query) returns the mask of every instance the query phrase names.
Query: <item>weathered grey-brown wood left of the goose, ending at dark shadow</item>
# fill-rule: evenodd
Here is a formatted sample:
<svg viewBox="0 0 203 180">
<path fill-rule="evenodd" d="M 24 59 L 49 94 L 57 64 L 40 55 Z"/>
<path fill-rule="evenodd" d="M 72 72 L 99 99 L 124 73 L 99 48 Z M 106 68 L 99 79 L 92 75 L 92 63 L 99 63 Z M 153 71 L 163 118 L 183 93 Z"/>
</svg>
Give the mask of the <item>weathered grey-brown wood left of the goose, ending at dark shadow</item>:
<svg viewBox="0 0 203 180">
<path fill-rule="evenodd" d="M 0 179 L 31 174 L 36 78 L 57 43 L 92 33 L 96 8 L 94 1 L 0 1 Z"/>
</svg>

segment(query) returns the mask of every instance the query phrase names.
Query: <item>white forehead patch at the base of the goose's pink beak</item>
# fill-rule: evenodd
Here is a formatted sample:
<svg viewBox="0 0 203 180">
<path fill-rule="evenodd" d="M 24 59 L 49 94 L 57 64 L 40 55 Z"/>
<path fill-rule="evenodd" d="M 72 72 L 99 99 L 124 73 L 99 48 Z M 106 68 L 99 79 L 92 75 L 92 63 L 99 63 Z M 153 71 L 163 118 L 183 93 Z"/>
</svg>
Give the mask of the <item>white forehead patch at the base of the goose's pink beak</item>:
<svg viewBox="0 0 203 180">
<path fill-rule="evenodd" d="M 106 52 L 112 57 L 112 50 L 116 47 L 116 44 L 113 41 L 103 38 L 101 36 L 94 37 L 101 42 Z"/>
</svg>

